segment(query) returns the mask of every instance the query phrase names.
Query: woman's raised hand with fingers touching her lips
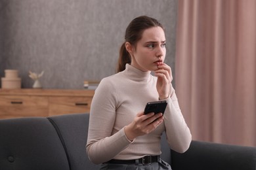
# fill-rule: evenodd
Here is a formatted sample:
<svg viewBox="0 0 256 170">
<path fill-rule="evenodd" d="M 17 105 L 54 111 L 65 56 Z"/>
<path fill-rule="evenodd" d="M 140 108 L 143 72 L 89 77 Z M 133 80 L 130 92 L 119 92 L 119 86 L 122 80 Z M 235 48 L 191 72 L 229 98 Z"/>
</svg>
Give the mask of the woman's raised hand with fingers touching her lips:
<svg viewBox="0 0 256 170">
<path fill-rule="evenodd" d="M 171 94 L 171 81 L 173 80 L 171 67 L 165 63 L 161 63 L 161 65 L 158 65 L 155 75 L 158 77 L 156 89 L 158 90 L 159 99 L 167 99 L 169 94 Z"/>
</svg>

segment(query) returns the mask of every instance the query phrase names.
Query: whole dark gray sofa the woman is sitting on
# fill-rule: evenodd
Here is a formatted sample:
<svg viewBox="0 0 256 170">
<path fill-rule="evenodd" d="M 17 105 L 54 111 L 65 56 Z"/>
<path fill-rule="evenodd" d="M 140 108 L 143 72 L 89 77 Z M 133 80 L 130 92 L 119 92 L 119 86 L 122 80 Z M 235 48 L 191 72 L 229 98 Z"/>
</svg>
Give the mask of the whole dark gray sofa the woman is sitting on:
<svg viewBox="0 0 256 170">
<path fill-rule="evenodd" d="M 85 152 L 89 114 L 0 120 L 1 170 L 98 169 Z M 164 137 L 163 137 L 164 138 Z M 184 154 L 161 141 L 174 170 L 255 170 L 256 148 L 192 141 Z"/>
</svg>

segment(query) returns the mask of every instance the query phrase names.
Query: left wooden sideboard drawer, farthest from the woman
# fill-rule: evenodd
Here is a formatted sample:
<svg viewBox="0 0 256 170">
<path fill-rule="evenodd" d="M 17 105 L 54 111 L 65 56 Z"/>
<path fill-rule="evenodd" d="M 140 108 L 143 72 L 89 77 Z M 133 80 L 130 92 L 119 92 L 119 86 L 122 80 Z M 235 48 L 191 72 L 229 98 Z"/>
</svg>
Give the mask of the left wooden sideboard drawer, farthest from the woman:
<svg viewBox="0 0 256 170">
<path fill-rule="evenodd" d="M 1 118 L 16 118 L 48 115 L 47 97 L 1 95 L 0 115 Z"/>
</svg>

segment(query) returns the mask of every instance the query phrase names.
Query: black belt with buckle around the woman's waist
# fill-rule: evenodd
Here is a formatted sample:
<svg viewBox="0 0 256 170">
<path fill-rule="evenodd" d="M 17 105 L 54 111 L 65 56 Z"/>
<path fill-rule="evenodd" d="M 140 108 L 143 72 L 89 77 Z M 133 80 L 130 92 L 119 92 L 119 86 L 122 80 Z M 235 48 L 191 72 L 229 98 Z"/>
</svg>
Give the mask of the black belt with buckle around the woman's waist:
<svg viewBox="0 0 256 170">
<path fill-rule="evenodd" d="M 160 156 L 144 156 L 143 158 L 139 158 L 137 160 L 110 160 L 105 163 L 114 163 L 114 164 L 151 164 L 153 162 L 158 162 L 160 160 Z"/>
</svg>

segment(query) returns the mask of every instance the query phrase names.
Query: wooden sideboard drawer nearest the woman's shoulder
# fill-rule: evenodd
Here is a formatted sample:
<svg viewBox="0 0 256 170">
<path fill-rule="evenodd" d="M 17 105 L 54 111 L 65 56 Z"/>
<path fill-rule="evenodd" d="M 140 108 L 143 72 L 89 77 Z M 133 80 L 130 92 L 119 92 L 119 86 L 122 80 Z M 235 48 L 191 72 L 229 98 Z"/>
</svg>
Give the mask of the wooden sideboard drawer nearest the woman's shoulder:
<svg viewBox="0 0 256 170">
<path fill-rule="evenodd" d="M 49 116 L 90 111 L 92 97 L 49 97 Z"/>
</svg>

